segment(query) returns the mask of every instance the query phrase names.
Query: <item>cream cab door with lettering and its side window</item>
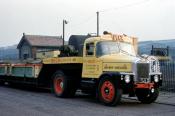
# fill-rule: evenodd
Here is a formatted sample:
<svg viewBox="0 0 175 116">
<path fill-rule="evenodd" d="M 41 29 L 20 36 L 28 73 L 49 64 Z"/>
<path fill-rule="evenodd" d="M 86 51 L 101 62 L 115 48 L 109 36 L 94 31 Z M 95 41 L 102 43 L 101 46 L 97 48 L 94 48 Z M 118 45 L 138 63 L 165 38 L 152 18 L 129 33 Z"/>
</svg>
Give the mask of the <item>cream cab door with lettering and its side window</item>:
<svg viewBox="0 0 175 116">
<path fill-rule="evenodd" d="M 83 78 L 98 78 L 102 72 L 102 62 L 96 58 L 94 42 L 86 43 L 83 54 Z"/>
</svg>

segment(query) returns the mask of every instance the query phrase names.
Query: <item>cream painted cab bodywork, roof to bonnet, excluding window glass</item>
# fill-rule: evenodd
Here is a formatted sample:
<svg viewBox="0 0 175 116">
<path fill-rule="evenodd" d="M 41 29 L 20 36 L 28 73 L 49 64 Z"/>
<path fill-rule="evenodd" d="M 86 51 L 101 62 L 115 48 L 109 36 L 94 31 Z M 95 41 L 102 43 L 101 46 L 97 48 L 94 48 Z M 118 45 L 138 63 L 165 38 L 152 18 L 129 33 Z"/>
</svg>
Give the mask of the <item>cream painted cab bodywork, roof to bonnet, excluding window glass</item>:
<svg viewBox="0 0 175 116">
<path fill-rule="evenodd" d="M 92 37 L 85 41 L 83 48 L 83 78 L 99 78 L 103 72 L 132 72 L 132 62 L 135 61 L 135 56 L 126 55 L 123 53 L 104 55 L 97 58 L 96 44 L 99 41 L 122 41 L 130 44 L 132 38 L 126 36 L 105 35 L 101 37 Z M 86 44 L 94 43 L 94 55 L 86 56 Z"/>
</svg>

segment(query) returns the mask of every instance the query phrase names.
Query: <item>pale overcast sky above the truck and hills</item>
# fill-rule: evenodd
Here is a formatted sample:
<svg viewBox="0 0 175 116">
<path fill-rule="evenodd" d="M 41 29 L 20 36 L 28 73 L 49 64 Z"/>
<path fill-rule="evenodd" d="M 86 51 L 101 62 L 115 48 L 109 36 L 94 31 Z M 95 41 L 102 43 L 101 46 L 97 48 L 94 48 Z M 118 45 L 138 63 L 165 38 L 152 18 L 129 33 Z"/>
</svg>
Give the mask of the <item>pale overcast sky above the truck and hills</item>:
<svg viewBox="0 0 175 116">
<path fill-rule="evenodd" d="M 0 0 L 0 47 L 18 44 L 22 34 L 70 35 L 109 31 L 139 41 L 175 39 L 175 0 Z"/>
</svg>

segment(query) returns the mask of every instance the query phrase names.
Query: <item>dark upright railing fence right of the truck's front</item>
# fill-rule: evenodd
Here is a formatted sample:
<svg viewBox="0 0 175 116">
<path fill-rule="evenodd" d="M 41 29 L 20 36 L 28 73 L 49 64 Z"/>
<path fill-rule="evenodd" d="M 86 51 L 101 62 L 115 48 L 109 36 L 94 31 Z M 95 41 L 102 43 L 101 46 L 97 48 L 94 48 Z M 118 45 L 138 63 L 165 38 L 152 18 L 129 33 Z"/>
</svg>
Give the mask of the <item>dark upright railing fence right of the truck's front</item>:
<svg viewBox="0 0 175 116">
<path fill-rule="evenodd" d="M 160 70 L 163 79 L 160 90 L 175 93 L 175 61 L 161 61 Z"/>
</svg>

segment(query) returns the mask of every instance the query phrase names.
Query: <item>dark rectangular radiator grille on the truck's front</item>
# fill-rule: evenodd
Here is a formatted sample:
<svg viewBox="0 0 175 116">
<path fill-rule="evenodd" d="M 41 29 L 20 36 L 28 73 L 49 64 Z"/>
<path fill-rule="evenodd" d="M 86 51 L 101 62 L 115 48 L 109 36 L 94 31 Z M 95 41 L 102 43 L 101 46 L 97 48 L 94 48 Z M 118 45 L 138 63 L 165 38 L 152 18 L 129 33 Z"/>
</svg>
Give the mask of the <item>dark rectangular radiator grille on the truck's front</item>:
<svg viewBox="0 0 175 116">
<path fill-rule="evenodd" d="M 137 75 L 138 78 L 149 78 L 149 63 L 138 63 Z"/>
</svg>

